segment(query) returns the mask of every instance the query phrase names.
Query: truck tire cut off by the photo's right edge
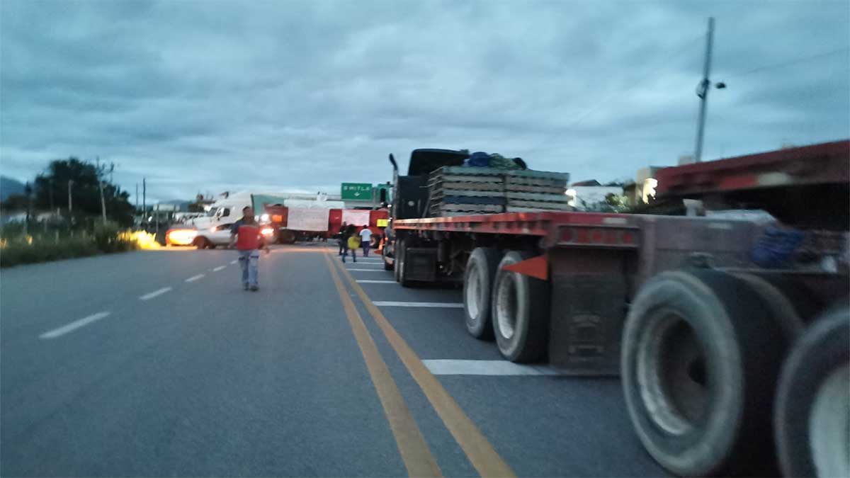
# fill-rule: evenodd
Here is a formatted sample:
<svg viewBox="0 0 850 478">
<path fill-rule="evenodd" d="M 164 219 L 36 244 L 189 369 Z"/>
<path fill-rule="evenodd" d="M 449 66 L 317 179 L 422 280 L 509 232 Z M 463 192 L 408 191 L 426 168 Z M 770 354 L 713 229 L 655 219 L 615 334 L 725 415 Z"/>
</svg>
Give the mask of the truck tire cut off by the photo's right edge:
<svg viewBox="0 0 850 478">
<path fill-rule="evenodd" d="M 850 310 L 813 322 L 779 378 L 774 415 L 785 476 L 850 476 Z"/>
</svg>

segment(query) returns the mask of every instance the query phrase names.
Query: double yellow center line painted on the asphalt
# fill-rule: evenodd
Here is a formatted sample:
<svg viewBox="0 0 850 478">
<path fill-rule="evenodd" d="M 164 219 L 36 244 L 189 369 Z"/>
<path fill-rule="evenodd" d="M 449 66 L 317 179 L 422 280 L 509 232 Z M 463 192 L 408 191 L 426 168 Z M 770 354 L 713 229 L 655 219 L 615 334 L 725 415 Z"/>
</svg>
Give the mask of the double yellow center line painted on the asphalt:
<svg viewBox="0 0 850 478">
<path fill-rule="evenodd" d="M 375 347 L 375 343 L 371 339 L 371 335 L 365 329 L 365 325 L 363 324 L 360 315 L 357 313 L 357 310 L 354 308 L 354 303 L 348 297 L 348 293 L 345 291 L 345 287 L 343 287 L 342 282 L 339 279 L 339 275 L 337 274 L 336 267 L 333 265 L 333 262 L 329 258 L 329 256 L 325 256 L 328 267 L 331 268 L 331 276 L 333 276 L 334 283 L 337 284 L 337 291 L 339 292 L 340 298 L 343 300 L 343 308 L 346 309 L 346 315 L 348 315 L 348 322 L 352 323 L 352 328 L 355 329 L 354 335 L 357 337 L 357 330 L 354 327 L 354 322 L 359 323 L 359 327 L 362 327 L 362 333 L 365 335 L 365 340 L 367 341 L 366 347 L 370 348 L 370 350 L 374 350 L 374 354 L 377 356 L 377 361 L 380 361 L 383 366 L 384 371 L 387 373 L 387 379 L 392 382 L 393 378 L 389 376 L 389 371 L 387 370 L 386 364 L 383 362 L 381 356 L 377 352 L 377 348 Z M 431 402 L 431 406 L 434 411 L 437 412 L 439 418 L 445 424 L 446 429 L 449 430 L 452 436 L 455 437 L 458 445 L 462 448 L 463 452 L 466 453 L 467 458 L 469 458 L 469 462 L 473 464 L 476 470 L 478 470 L 479 474 L 484 477 L 489 476 L 515 476 L 513 473 L 513 469 L 508 466 L 507 463 L 493 449 L 493 446 L 490 445 L 490 441 L 487 441 L 487 438 L 484 437 L 484 434 L 481 433 L 481 430 L 478 429 L 477 426 L 473 423 L 473 421 L 467 417 L 466 413 L 463 413 L 461 407 L 457 404 L 454 398 L 449 395 L 437 378 L 433 376 L 433 374 L 428 371 L 428 368 L 425 367 L 425 364 L 416 356 L 416 352 L 411 349 L 411 346 L 405 342 L 405 339 L 402 339 L 399 333 L 397 333 L 392 325 L 388 322 L 387 318 L 383 316 L 381 310 L 378 310 L 377 306 L 372 303 L 369 296 L 363 291 L 363 288 L 354 281 L 354 278 L 348 273 L 348 270 L 345 269 L 342 265 L 339 266 L 339 270 L 342 270 L 343 275 L 348 279 L 349 285 L 354 289 L 354 292 L 360 297 L 360 300 L 365 305 L 366 310 L 369 311 L 369 314 L 372 318 L 375 319 L 378 327 L 381 327 L 382 332 L 387 337 L 387 340 L 390 345 L 393 346 L 395 353 L 399 355 L 402 363 L 405 364 L 408 373 L 411 374 L 414 380 L 416 380 L 416 384 L 419 384 L 419 387 L 424 392 L 425 396 L 428 397 L 428 401 Z M 352 320 L 352 313 L 348 311 L 348 304 L 352 309 L 354 316 L 356 316 L 356 321 Z M 366 357 L 366 350 L 364 349 L 364 344 L 361 342 L 360 337 L 357 338 L 358 343 L 360 344 L 360 349 L 363 350 L 363 356 Z M 366 365 L 369 366 L 369 359 L 366 358 Z M 370 367 L 371 373 L 371 367 Z M 372 381 L 375 381 L 375 374 L 372 374 Z M 375 382 L 375 388 L 378 390 L 378 396 L 381 396 L 380 387 L 377 382 Z M 395 390 L 395 393 L 398 394 L 398 388 L 395 387 L 394 382 L 392 382 L 392 388 Z M 409 417 L 412 421 L 412 417 L 410 416 L 410 412 L 407 410 L 407 407 L 404 405 L 404 399 L 401 396 L 398 396 L 399 401 L 401 401 L 401 407 L 404 407 L 406 417 Z M 401 452 L 401 457 L 405 461 L 405 466 L 408 469 L 408 473 L 411 476 L 421 475 L 421 473 L 414 472 L 411 469 L 412 463 L 408 463 L 408 460 L 405 458 L 405 453 L 411 457 L 422 457 L 427 454 L 428 458 L 433 461 L 433 457 L 431 456 L 431 452 L 428 449 L 428 445 L 422 439 L 422 433 L 419 431 L 418 427 L 416 427 L 416 423 L 413 422 L 411 425 L 416 429 L 415 434 L 408 435 L 416 435 L 419 440 L 422 440 L 421 443 L 416 441 L 411 441 L 409 443 L 402 443 L 399 441 L 399 434 L 395 432 L 396 427 L 393 424 L 393 418 L 390 411 L 387 409 L 386 402 L 383 398 L 381 398 L 382 403 L 384 403 L 384 409 L 387 413 L 388 419 L 390 421 L 390 428 L 394 430 L 396 441 L 399 445 L 399 452 Z M 398 424 L 396 426 L 399 426 Z M 404 437 L 405 440 L 410 439 L 409 436 Z M 416 453 L 414 453 L 416 451 Z M 436 468 L 436 462 L 433 462 L 433 466 Z M 422 469 L 422 467 L 416 468 Z M 439 473 L 439 468 L 436 468 Z M 429 473 L 433 473 L 433 470 Z"/>
</svg>

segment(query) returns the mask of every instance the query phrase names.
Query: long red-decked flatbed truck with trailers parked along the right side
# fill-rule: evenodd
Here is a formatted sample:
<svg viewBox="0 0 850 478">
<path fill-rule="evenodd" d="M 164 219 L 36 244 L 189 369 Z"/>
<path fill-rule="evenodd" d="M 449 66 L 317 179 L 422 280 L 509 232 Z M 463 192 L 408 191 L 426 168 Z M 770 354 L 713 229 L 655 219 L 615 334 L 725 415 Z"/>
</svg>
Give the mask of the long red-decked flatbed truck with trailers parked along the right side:
<svg viewBox="0 0 850 478">
<path fill-rule="evenodd" d="M 619 375 L 673 474 L 850 476 L 850 141 L 661 169 L 656 209 L 698 216 L 453 213 L 535 197 L 468 159 L 416 150 L 400 175 L 390 155 L 382 257 L 402 286 L 462 286 L 468 333 L 509 361 Z"/>
</svg>

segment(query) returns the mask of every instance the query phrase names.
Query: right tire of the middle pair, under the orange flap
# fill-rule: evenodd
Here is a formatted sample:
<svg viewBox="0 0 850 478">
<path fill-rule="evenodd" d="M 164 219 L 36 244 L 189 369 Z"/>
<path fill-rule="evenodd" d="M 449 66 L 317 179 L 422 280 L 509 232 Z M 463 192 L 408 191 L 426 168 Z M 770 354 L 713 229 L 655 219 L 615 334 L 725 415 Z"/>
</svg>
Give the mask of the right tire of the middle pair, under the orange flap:
<svg viewBox="0 0 850 478">
<path fill-rule="evenodd" d="M 506 265 L 534 254 L 510 251 L 499 262 L 493 281 L 490 316 L 501 356 L 513 362 L 541 359 L 549 339 L 549 284 L 509 270 Z"/>
</svg>

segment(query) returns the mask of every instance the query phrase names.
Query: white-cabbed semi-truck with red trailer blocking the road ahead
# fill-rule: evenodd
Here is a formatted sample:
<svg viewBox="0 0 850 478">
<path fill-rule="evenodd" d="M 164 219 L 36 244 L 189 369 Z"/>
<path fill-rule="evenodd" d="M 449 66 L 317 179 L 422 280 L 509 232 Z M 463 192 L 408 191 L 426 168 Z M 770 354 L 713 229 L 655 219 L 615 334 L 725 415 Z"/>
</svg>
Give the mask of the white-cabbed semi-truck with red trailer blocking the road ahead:
<svg viewBox="0 0 850 478">
<path fill-rule="evenodd" d="M 388 220 L 387 209 L 350 209 L 341 201 L 292 199 L 273 194 L 240 192 L 213 202 L 209 212 L 188 219 L 167 231 L 166 242 L 194 245 L 199 249 L 226 246 L 230 227 L 242 216 L 242 208 L 253 208 L 263 232 L 270 242 L 326 240 L 335 236 L 343 223 L 358 230 L 368 227 L 382 235 Z"/>
</svg>

